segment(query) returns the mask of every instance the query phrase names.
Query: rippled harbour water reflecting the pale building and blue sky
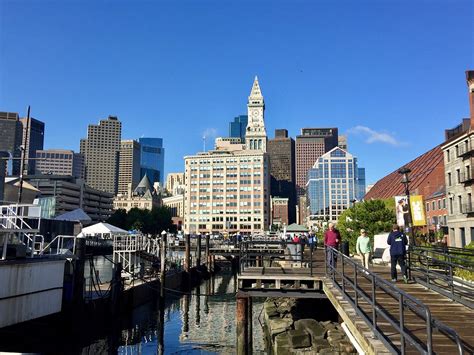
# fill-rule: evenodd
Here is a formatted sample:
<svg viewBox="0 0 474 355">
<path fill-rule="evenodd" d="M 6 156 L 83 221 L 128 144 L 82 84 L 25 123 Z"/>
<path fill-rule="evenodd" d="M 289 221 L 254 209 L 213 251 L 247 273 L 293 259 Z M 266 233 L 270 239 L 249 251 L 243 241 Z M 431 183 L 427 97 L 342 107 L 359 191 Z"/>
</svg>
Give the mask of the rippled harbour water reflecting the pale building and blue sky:
<svg viewBox="0 0 474 355">
<path fill-rule="evenodd" d="M 235 353 L 235 290 L 235 275 L 228 271 L 204 281 L 191 294 L 168 293 L 164 317 L 164 353 Z M 253 303 L 253 346 L 256 354 L 266 353 L 263 331 L 258 320 L 262 306 L 263 300 L 255 300 Z M 153 315 L 158 316 L 158 310 Z M 130 333 L 126 338 L 122 334 L 124 345 L 118 348 L 118 353 L 156 354 L 159 350 L 157 328 L 158 320 L 154 324 L 136 323 L 131 329 L 124 331 Z"/>
</svg>

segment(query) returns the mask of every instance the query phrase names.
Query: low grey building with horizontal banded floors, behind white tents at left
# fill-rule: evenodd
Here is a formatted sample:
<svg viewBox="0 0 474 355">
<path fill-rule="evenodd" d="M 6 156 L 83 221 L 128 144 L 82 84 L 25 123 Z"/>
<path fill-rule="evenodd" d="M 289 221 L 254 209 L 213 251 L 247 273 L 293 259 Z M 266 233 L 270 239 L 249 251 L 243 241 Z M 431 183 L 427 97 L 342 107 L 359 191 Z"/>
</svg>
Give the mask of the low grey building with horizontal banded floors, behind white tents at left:
<svg viewBox="0 0 474 355">
<path fill-rule="evenodd" d="M 43 218 L 81 208 L 93 222 L 101 222 L 112 213 L 113 195 L 86 185 L 82 179 L 70 175 L 28 175 L 25 181 L 40 191 Z"/>
</svg>

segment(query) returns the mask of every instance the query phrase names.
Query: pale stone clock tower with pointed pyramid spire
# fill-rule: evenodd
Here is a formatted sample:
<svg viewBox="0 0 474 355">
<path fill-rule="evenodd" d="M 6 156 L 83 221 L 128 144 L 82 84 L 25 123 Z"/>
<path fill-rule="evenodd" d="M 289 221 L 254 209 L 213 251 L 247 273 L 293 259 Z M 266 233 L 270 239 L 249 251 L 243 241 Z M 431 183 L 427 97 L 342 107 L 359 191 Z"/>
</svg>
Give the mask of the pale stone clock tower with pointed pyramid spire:
<svg viewBox="0 0 474 355">
<path fill-rule="evenodd" d="M 263 101 L 258 78 L 252 85 L 249 101 L 247 104 L 248 124 L 245 132 L 245 143 L 247 149 L 267 151 L 267 132 L 265 130 L 265 122 L 263 121 L 263 112 L 265 111 L 265 103 Z"/>
</svg>

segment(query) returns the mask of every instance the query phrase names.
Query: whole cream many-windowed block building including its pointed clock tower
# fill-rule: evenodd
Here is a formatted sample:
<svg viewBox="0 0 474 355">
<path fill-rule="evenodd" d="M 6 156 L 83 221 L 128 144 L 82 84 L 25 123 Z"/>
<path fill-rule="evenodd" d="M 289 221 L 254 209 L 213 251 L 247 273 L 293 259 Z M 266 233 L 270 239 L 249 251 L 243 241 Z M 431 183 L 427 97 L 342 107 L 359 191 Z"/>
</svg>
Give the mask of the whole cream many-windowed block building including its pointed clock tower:
<svg viewBox="0 0 474 355">
<path fill-rule="evenodd" d="M 261 233 L 270 223 L 264 101 L 255 78 L 245 145 L 217 139 L 214 150 L 185 157 L 185 233 Z M 238 139 L 240 141 L 240 139 Z"/>
</svg>

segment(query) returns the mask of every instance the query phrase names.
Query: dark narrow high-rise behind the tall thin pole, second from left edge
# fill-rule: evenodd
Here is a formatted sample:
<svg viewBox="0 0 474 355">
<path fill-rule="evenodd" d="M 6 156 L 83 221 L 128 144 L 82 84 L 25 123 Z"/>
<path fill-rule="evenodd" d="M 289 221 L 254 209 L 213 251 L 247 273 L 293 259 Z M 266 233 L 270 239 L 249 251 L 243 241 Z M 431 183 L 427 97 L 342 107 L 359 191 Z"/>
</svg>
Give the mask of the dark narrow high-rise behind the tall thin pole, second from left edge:
<svg viewBox="0 0 474 355">
<path fill-rule="evenodd" d="M 25 172 L 27 174 L 35 173 L 36 156 L 37 150 L 43 149 L 44 143 L 44 123 L 30 117 L 20 118 L 21 125 L 23 126 L 23 142 L 26 142 L 25 148 Z M 24 143 L 23 143 L 24 144 Z"/>
</svg>

